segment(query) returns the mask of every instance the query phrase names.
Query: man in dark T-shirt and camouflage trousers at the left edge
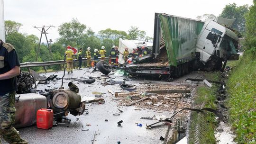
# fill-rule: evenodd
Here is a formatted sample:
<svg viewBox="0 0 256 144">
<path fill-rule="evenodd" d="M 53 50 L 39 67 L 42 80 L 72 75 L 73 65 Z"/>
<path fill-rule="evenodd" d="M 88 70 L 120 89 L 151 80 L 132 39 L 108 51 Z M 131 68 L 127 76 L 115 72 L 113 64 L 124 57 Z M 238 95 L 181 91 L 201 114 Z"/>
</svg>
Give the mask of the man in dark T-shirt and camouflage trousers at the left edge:
<svg viewBox="0 0 256 144">
<path fill-rule="evenodd" d="M 15 122 L 14 104 L 19 66 L 15 48 L 0 40 L 0 143 L 3 137 L 9 144 L 27 144 L 12 127 Z"/>
</svg>

